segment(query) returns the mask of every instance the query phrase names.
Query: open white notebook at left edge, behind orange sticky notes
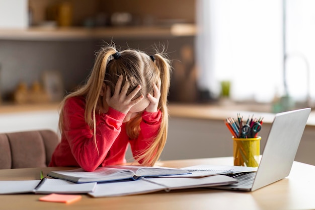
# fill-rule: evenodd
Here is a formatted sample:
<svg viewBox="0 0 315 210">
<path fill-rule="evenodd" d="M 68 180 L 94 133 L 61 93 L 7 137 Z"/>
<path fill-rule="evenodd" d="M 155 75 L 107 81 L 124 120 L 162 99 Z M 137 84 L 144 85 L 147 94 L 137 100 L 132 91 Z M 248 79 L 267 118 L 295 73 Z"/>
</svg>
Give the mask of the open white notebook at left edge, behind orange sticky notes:
<svg viewBox="0 0 315 210">
<path fill-rule="evenodd" d="M 75 184 L 66 180 L 47 178 L 41 180 L 0 181 L 0 194 L 81 194 L 93 192 L 96 184 L 96 182 Z"/>
</svg>

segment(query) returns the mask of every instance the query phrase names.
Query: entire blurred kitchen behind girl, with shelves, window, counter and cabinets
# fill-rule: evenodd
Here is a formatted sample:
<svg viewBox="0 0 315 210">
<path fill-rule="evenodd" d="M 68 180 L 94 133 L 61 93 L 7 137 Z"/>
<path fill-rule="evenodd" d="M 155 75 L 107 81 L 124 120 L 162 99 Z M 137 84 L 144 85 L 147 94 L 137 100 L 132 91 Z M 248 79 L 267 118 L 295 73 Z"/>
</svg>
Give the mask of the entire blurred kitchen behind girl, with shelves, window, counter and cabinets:
<svg viewBox="0 0 315 210">
<path fill-rule="evenodd" d="M 312 0 L 0 0 L 0 131 L 57 130 L 58 102 L 113 41 L 166 47 L 173 60 L 163 160 L 231 156 L 223 120 L 240 111 L 265 117 L 263 148 L 269 114 L 314 105 L 314 10 Z M 297 160 L 315 164 L 311 115 Z"/>
</svg>

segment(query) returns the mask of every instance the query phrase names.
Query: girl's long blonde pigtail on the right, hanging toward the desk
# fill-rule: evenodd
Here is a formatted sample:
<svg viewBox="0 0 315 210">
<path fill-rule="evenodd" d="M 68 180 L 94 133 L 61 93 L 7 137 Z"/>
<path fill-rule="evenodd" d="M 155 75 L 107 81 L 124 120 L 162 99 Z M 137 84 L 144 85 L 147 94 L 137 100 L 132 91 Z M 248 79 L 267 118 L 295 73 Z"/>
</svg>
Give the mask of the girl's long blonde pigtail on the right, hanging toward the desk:
<svg viewBox="0 0 315 210">
<path fill-rule="evenodd" d="M 154 62 L 157 69 L 159 69 L 161 78 L 161 97 L 159 101 L 159 109 L 162 112 L 161 126 L 152 145 L 139 157 L 136 157 L 136 160 L 141 160 L 142 165 L 148 166 L 154 165 L 156 161 L 159 160 L 166 144 L 169 127 L 167 97 L 170 89 L 171 65 L 169 59 L 162 54 L 156 53 L 153 56 L 154 60 L 150 57 L 152 59 L 151 62 Z"/>
</svg>

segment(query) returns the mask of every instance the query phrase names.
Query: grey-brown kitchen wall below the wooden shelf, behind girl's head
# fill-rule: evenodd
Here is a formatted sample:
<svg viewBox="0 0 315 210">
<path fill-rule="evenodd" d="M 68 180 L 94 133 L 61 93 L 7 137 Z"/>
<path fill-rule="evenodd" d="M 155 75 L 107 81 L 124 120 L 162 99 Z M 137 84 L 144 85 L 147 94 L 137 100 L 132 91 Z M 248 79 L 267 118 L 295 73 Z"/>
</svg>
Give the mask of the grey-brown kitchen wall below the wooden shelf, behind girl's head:
<svg viewBox="0 0 315 210">
<path fill-rule="evenodd" d="M 195 90 L 194 77 L 190 66 L 194 62 L 182 56 L 181 49 L 193 50 L 194 37 L 170 37 L 156 40 L 155 38 L 113 39 L 118 48 L 136 48 L 152 53 L 150 47 L 154 44 L 164 44 L 176 67 L 173 71 L 171 93 L 169 99 L 191 101 Z M 41 81 L 44 71 L 60 72 L 64 83 L 64 92 L 71 91 L 77 85 L 83 84 L 93 67 L 95 51 L 104 40 L 76 40 L 76 41 L 10 41 L 0 40 L 0 93 L 6 100 L 20 82 L 30 87 L 34 81 Z M 186 65 L 186 64 L 189 65 Z M 188 76 L 187 76 L 188 75 Z M 189 83 L 186 82 L 189 81 Z M 190 86 L 190 87 L 189 87 Z M 179 92 L 185 88 L 190 91 Z M 184 94 L 180 94 L 184 93 Z"/>
</svg>

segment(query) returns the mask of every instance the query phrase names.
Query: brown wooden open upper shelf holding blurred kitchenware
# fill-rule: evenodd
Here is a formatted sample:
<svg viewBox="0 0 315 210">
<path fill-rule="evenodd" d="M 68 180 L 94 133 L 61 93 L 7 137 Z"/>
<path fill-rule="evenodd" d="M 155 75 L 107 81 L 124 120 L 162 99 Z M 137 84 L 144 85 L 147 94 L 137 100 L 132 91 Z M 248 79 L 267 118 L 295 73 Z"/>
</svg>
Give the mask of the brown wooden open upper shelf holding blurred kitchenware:
<svg viewBox="0 0 315 210">
<path fill-rule="evenodd" d="M 196 34 L 195 0 L 28 0 L 26 10 L 29 27 L 0 28 L 0 39 L 166 38 Z"/>
</svg>

